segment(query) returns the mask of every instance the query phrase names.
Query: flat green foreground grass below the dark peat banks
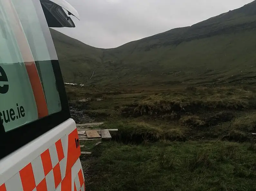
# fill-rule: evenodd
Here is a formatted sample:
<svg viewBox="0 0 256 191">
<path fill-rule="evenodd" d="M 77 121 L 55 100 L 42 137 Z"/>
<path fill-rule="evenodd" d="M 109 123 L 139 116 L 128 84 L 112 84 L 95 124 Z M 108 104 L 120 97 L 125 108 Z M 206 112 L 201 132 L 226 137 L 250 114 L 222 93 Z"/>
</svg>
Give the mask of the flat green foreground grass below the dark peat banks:
<svg viewBox="0 0 256 191">
<path fill-rule="evenodd" d="M 104 143 L 87 190 L 255 190 L 256 153 L 249 144 Z"/>
</svg>

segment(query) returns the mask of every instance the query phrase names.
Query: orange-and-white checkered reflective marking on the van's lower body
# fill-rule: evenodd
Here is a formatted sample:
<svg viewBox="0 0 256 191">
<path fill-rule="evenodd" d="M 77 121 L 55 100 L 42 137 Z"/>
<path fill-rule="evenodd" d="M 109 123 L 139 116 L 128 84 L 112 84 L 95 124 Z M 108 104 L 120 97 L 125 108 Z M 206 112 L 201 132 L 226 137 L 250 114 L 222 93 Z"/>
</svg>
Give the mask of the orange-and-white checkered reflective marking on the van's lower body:
<svg viewBox="0 0 256 191">
<path fill-rule="evenodd" d="M 81 152 L 79 146 L 76 148 L 75 141 L 78 138 L 77 129 L 70 135 L 59 139 L 8 179 L 0 186 L 0 191 L 71 191 L 74 187 L 77 191 L 84 191 L 84 176 L 79 160 Z M 66 168 L 68 164 L 70 170 Z"/>
</svg>

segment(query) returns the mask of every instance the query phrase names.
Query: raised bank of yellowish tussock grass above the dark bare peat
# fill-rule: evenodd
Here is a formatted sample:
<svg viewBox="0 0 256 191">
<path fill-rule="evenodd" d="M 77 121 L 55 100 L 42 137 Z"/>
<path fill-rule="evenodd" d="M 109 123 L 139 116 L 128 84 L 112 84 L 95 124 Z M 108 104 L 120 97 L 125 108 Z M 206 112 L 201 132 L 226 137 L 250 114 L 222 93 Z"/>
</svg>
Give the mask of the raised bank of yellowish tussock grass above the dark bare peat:
<svg viewBox="0 0 256 191">
<path fill-rule="evenodd" d="M 186 88 L 187 89 L 187 88 Z M 256 105 L 256 94 L 239 88 L 207 88 L 180 90 L 177 95 L 150 95 L 141 100 L 134 113 L 137 115 L 156 115 L 166 112 L 195 112 L 198 110 L 245 110 Z"/>
</svg>

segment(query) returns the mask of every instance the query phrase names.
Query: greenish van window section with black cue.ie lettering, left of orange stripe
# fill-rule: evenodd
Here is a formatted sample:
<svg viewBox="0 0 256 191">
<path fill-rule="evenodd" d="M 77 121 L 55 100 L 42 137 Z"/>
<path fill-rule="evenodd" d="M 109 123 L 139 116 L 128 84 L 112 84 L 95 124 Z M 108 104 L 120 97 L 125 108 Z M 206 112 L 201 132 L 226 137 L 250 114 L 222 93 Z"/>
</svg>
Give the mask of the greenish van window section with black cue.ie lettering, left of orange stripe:
<svg viewBox="0 0 256 191">
<path fill-rule="evenodd" d="M 38 119 L 27 70 L 0 2 L 0 117 L 5 131 Z"/>
</svg>

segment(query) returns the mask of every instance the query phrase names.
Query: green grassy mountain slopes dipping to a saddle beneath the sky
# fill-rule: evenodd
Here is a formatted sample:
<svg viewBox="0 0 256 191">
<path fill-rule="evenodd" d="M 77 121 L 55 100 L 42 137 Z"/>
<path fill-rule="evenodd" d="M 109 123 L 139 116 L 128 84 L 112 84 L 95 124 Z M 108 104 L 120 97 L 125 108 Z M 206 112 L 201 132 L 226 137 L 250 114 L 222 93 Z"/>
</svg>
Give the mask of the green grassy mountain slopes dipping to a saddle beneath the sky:
<svg viewBox="0 0 256 191">
<path fill-rule="evenodd" d="M 256 82 L 256 1 L 112 49 L 51 32 L 67 82 L 102 86 Z"/>
</svg>

